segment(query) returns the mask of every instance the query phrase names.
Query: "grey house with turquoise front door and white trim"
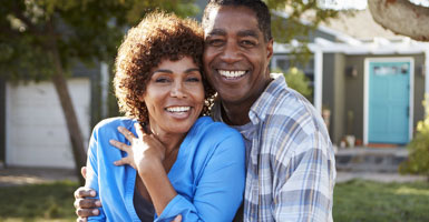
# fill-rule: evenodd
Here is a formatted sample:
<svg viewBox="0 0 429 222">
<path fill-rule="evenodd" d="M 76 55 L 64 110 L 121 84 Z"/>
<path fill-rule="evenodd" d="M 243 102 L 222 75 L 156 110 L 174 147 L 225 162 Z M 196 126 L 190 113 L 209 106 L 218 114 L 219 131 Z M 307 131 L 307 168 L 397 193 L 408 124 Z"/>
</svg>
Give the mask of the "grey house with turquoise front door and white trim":
<svg viewBox="0 0 429 222">
<path fill-rule="evenodd" d="M 309 48 L 304 72 L 313 80 L 315 108 L 330 110 L 333 143 L 345 135 L 364 145 L 410 142 L 426 114 L 429 43 L 394 36 L 363 10 L 320 26 Z M 289 46 L 274 44 L 271 68 L 286 70 L 289 53 Z"/>
</svg>

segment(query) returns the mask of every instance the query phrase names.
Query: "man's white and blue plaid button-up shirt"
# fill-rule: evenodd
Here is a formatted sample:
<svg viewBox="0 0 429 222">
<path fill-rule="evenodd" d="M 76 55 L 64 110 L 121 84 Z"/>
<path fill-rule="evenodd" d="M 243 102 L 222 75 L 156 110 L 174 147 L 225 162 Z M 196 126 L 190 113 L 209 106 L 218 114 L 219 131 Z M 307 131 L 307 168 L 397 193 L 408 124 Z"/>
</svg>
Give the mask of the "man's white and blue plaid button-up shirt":
<svg viewBox="0 0 429 222">
<path fill-rule="evenodd" d="M 279 77 L 248 117 L 244 221 L 332 221 L 335 160 L 319 112 Z"/>
</svg>

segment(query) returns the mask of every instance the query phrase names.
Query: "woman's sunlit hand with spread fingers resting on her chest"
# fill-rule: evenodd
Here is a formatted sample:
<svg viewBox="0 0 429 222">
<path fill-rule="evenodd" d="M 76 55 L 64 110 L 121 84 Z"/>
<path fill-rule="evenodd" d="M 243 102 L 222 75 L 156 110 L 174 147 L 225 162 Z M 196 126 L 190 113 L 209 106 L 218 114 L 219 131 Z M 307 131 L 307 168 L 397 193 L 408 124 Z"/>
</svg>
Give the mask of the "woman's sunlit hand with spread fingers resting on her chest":
<svg viewBox="0 0 429 222">
<path fill-rule="evenodd" d="M 133 132 L 123 127 L 118 127 L 118 131 L 131 143 L 127 145 L 116 140 L 110 140 L 110 144 L 126 152 L 128 155 L 115 161 L 115 165 L 129 164 L 138 172 L 147 172 L 153 167 L 154 161 L 162 163 L 165 158 L 164 145 L 153 135 L 143 131 L 140 124 L 135 123 L 137 138 Z M 159 161 L 159 162 L 158 162 Z"/>
</svg>

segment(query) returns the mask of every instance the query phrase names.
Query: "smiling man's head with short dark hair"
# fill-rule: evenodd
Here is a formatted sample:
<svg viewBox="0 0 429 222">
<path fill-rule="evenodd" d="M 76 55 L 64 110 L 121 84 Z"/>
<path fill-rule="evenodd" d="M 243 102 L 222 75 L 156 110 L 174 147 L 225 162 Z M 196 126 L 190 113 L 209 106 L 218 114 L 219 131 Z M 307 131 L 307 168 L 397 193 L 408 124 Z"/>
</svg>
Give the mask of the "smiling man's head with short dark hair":
<svg viewBox="0 0 429 222">
<path fill-rule="evenodd" d="M 273 53 L 255 13 L 246 7 L 213 9 L 204 36 L 205 73 L 222 101 L 252 105 L 270 81 Z"/>
</svg>

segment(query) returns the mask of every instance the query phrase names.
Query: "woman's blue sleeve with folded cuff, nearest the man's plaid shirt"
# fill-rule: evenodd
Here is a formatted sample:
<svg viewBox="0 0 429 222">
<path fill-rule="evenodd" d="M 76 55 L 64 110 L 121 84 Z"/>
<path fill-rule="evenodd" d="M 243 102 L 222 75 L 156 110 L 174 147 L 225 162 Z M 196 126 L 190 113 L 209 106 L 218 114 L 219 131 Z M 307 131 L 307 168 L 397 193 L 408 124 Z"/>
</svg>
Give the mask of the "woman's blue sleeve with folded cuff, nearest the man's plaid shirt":
<svg viewBox="0 0 429 222">
<path fill-rule="evenodd" d="M 186 222 L 232 221 L 244 192 L 245 148 L 241 135 L 222 141 L 195 189 L 194 200 L 176 195 L 155 221 L 172 221 L 181 214 Z"/>
</svg>

